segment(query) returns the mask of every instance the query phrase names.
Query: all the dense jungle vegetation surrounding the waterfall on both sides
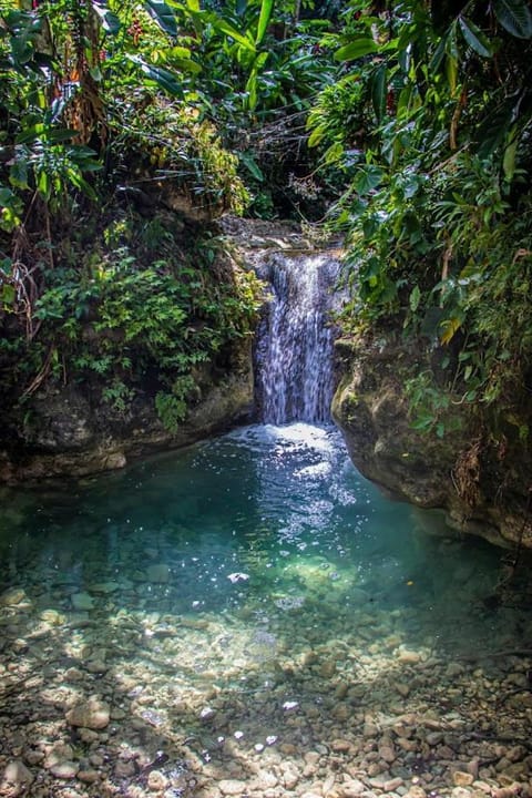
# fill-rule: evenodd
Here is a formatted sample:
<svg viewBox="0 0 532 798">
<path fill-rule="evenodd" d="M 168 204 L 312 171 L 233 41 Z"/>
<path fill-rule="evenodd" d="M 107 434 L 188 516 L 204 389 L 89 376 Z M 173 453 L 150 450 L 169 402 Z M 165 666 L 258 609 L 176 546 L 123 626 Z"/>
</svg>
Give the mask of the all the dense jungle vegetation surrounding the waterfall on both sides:
<svg viewBox="0 0 532 798">
<path fill-rule="evenodd" d="M 88 380 L 120 410 L 149 374 L 178 423 L 258 306 L 231 212 L 345 234 L 346 332 L 439 352 L 420 429 L 460 402 L 528 438 L 528 0 L 0 4 L 4 403 Z"/>
</svg>

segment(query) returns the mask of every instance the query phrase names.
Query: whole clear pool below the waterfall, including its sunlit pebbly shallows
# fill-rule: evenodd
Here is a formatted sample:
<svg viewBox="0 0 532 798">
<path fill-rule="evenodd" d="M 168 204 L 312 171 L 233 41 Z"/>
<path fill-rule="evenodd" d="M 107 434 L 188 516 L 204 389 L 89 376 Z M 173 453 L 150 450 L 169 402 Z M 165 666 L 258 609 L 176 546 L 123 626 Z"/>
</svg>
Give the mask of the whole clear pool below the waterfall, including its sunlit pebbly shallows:
<svg viewBox="0 0 532 798">
<path fill-rule="evenodd" d="M 532 631 L 491 602 L 501 552 L 385 499 L 331 428 L 249 427 L 1 500 L 0 593 L 24 591 L 0 606 L 8 695 L 52 718 L 111 695 L 120 745 L 149 739 L 152 758 L 168 740 L 205 765 L 229 738 L 250 756 L 309 750 L 355 734 L 368 706 L 401 712 L 408 663 L 437 695 L 431 663 L 479 662 Z"/>
</svg>

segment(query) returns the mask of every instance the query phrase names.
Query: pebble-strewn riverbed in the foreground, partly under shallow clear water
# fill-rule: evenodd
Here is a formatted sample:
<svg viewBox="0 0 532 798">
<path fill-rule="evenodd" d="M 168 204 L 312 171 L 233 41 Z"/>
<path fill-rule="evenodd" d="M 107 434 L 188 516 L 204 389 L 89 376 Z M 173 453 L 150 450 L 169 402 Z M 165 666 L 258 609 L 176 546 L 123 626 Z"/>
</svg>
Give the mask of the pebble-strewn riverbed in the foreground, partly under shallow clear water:
<svg viewBox="0 0 532 798">
<path fill-rule="evenodd" d="M 163 569 L 152 579 L 164 594 Z M 532 791 L 532 658 L 510 640 L 449 656 L 437 638 L 407 645 L 399 612 L 346 608 L 324 640 L 303 601 L 268 620 L 121 606 L 145 591 L 0 596 L 1 796 Z"/>
</svg>

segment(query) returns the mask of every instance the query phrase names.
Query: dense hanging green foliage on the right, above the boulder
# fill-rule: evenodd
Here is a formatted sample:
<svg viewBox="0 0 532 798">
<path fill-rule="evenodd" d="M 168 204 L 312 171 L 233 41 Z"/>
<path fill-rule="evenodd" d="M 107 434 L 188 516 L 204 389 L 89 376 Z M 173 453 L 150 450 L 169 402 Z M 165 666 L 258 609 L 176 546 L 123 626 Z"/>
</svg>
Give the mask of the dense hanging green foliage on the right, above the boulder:
<svg viewBox="0 0 532 798">
<path fill-rule="evenodd" d="M 348 242 L 342 324 L 402 326 L 428 357 L 439 352 L 438 369 L 409 382 L 419 429 L 443 434 L 459 402 L 522 430 L 532 368 L 530 4 L 473 0 L 447 18 L 434 6 L 438 25 L 416 0 L 374 8 L 349 3 L 336 35 L 346 74 L 308 117 L 324 173 L 334 166 L 346 186 L 331 216 Z"/>
</svg>

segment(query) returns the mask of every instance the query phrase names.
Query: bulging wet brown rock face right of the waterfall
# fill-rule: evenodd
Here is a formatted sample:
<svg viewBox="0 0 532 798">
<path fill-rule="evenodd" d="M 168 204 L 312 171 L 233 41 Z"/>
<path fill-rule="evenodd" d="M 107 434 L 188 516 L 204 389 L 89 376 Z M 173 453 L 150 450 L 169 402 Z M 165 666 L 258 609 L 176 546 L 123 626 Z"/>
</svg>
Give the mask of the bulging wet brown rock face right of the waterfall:
<svg viewBox="0 0 532 798">
<path fill-rule="evenodd" d="M 345 339 L 337 347 L 341 378 L 332 417 L 359 471 L 399 499 L 443 508 L 448 523 L 461 532 L 532 548 L 526 510 L 531 464 L 523 447 L 509 450 L 502 461 L 497 440 L 487 436 L 469 472 L 461 471 L 478 436 L 467 407 L 451 407 L 460 426 L 452 431 L 448 418 L 443 438 L 411 427 L 405 380 L 415 369 L 419 372 L 421 348 Z"/>
</svg>

